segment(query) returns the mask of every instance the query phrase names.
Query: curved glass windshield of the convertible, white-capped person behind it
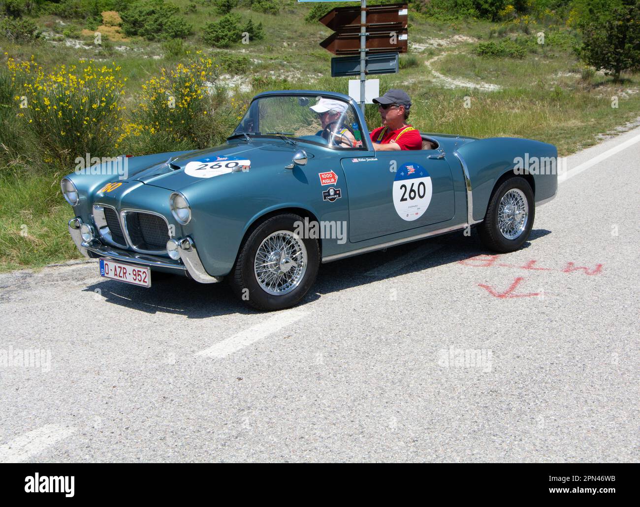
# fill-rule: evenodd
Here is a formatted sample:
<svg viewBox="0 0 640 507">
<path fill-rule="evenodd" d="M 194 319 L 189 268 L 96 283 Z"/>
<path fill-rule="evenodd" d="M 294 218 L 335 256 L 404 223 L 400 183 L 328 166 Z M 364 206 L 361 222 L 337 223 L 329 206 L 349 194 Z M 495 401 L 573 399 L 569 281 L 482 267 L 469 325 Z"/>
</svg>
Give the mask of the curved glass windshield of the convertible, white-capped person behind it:
<svg viewBox="0 0 640 507">
<path fill-rule="evenodd" d="M 232 136 L 274 136 L 333 149 L 362 149 L 362 128 L 353 107 L 318 95 L 270 96 L 256 99 Z"/>
</svg>

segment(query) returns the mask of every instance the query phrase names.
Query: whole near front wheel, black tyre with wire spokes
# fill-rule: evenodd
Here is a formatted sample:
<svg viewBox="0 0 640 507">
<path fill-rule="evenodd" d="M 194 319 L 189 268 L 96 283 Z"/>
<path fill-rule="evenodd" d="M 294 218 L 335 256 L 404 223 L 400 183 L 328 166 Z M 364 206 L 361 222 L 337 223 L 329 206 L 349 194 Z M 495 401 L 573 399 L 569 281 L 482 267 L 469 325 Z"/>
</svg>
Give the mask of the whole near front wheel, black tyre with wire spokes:
<svg viewBox="0 0 640 507">
<path fill-rule="evenodd" d="M 303 218 L 281 214 L 262 222 L 244 241 L 232 270 L 234 293 L 259 310 L 298 303 L 316 281 L 320 248 L 294 231 Z"/>
</svg>

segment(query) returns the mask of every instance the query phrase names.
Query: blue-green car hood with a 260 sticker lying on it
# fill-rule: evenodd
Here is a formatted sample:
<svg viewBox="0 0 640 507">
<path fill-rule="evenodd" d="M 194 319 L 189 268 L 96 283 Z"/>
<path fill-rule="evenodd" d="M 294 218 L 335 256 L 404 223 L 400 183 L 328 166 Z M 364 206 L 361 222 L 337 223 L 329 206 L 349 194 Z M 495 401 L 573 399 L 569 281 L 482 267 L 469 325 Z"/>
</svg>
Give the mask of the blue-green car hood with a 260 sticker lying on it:
<svg viewBox="0 0 640 507">
<path fill-rule="evenodd" d="M 245 170 L 260 170 L 266 165 L 291 163 L 291 157 L 296 152 L 296 147 L 269 142 L 252 141 L 252 143 L 228 144 L 204 150 L 196 150 L 185 154 L 168 153 L 168 158 L 148 168 L 137 172 L 134 179 L 145 184 L 159 186 L 169 190 L 181 190 L 193 184 L 199 184 L 211 179 L 228 177 L 230 170 L 225 173 L 214 171 L 194 172 L 197 166 L 213 165 L 216 162 L 243 161 L 243 165 L 249 162 Z M 172 156 L 173 155 L 173 156 Z M 189 165 L 189 163 L 193 163 Z M 194 174 L 206 174 L 198 177 Z M 211 175 L 210 175 L 211 174 Z"/>
</svg>

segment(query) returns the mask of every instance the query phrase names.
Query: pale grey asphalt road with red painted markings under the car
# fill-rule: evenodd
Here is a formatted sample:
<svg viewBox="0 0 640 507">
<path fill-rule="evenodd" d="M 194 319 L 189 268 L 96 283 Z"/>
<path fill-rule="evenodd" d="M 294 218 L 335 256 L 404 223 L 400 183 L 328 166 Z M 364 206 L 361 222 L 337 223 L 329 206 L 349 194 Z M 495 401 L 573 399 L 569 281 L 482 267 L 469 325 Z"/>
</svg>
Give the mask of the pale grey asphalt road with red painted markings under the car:
<svg viewBox="0 0 640 507">
<path fill-rule="evenodd" d="M 2 275 L 0 358 L 44 352 L 0 366 L 0 462 L 639 461 L 638 136 L 570 157 L 518 252 L 333 262 L 283 312 L 96 261 Z"/>
</svg>

